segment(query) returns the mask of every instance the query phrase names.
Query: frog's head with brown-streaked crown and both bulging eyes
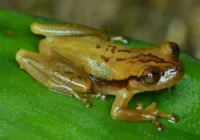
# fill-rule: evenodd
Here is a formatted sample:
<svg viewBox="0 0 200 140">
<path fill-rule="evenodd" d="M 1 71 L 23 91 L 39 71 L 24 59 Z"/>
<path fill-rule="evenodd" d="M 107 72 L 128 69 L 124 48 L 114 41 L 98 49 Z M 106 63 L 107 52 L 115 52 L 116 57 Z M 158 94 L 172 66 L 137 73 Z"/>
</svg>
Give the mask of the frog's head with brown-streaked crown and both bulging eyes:
<svg viewBox="0 0 200 140">
<path fill-rule="evenodd" d="M 179 46 L 173 42 L 144 50 L 137 67 L 138 78 L 129 80 L 129 88 L 142 92 L 176 84 L 184 75 L 184 66 L 179 60 L 179 54 Z"/>
</svg>

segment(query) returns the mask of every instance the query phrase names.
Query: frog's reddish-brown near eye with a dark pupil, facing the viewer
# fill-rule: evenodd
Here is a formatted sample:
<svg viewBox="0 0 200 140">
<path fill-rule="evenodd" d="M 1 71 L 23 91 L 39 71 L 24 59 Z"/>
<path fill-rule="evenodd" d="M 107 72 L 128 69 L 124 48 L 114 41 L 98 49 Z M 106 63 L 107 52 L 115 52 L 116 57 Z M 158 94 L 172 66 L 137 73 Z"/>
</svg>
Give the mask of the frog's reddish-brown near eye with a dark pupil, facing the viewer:
<svg viewBox="0 0 200 140">
<path fill-rule="evenodd" d="M 141 76 L 141 80 L 147 85 L 153 85 L 160 80 L 160 72 L 156 67 L 146 68 Z"/>
</svg>

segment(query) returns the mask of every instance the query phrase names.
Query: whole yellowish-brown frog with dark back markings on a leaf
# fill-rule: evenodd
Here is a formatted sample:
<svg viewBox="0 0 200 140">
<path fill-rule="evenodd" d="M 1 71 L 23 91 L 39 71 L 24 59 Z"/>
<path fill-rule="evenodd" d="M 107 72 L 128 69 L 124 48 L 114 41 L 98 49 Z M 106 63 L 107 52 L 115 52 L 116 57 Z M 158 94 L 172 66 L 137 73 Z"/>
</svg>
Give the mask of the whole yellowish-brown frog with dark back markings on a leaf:
<svg viewBox="0 0 200 140">
<path fill-rule="evenodd" d="M 78 24 L 34 22 L 30 29 L 45 36 L 39 52 L 21 48 L 16 61 L 43 86 L 72 95 L 86 107 L 92 105 L 89 98 L 115 96 L 110 115 L 116 120 L 151 121 L 159 131 L 163 126 L 158 117 L 177 122 L 175 114 L 157 109 L 157 102 L 147 107 L 138 102 L 136 108 L 128 104 L 138 93 L 170 88 L 182 79 L 178 44 L 166 41 L 151 48 L 131 48 L 123 37 Z"/>
</svg>

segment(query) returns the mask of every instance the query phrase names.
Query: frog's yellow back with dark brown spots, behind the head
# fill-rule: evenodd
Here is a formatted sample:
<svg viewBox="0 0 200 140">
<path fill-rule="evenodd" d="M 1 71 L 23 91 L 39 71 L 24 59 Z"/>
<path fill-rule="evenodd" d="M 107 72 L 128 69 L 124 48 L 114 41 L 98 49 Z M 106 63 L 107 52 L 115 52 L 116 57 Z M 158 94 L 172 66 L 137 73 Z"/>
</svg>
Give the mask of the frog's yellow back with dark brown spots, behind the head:
<svg viewBox="0 0 200 140">
<path fill-rule="evenodd" d="M 134 76 L 143 49 L 131 49 L 103 41 L 97 37 L 55 38 L 52 45 L 60 55 L 72 60 L 88 74 L 106 80 L 123 80 Z M 138 55 L 139 54 L 139 55 Z"/>
</svg>

